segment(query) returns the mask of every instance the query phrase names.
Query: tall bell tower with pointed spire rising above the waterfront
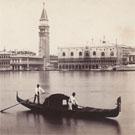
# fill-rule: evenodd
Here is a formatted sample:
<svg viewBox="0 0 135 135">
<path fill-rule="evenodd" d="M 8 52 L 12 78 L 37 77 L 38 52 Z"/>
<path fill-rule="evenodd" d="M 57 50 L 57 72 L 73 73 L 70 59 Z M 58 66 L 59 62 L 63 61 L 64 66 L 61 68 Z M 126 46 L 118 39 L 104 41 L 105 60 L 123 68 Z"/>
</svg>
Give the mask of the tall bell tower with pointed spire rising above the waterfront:
<svg viewBox="0 0 135 135">
<path fill-rule="evenodd" d="M 39 24 L 39 56 L 44 59 L 44 67 L 50 62 L 50 49 L 49 49 L 49 25 L 48 17 L 45 10 L 45 3 L 43 3 L 43 10 L 40 17 Z"/>
</svg>

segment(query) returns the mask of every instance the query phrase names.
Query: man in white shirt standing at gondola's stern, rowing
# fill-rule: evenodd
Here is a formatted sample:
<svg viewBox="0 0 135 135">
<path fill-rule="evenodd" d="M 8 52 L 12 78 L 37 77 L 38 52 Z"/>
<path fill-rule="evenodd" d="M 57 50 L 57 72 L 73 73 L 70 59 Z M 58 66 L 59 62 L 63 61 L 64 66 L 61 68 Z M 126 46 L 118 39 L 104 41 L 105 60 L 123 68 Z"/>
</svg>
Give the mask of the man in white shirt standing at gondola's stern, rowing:
<svg viewBox="0 0 135 135">
<path fill-rule="evenodd" d="M 40 104 L 40 96 L 39 95 L 42 93 L 45 93 L 45 91 L 40 87 L 39 84 L 37 84 L 37 87 L 35 88 L 35 96 L 34 96 L 34 101 L 33 101 L 34 103 L 37 99 L 38 104 Z"/>
</svg>

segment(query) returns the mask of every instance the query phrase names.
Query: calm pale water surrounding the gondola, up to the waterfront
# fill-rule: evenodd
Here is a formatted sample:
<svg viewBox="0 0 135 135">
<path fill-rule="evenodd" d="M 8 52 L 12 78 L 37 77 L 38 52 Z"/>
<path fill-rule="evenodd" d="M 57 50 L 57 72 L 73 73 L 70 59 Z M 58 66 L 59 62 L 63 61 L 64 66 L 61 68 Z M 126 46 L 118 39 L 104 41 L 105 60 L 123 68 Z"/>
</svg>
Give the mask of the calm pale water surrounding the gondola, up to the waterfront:
<svg viewBox="0 0 135 135">
<path fill-rule="evenodd" d="M 0 135 L 134 135 L 135 72 L 0 72 L 0 109 L 34 95 L 37 83 L 49 93 L 77 93 L 80 105 L 112 108 L 122 97 L 114 119 L 50 118 L 18 105 L 0 113 Z M 43 101 L 44 97 L 42 97 Z"/>
</svg>

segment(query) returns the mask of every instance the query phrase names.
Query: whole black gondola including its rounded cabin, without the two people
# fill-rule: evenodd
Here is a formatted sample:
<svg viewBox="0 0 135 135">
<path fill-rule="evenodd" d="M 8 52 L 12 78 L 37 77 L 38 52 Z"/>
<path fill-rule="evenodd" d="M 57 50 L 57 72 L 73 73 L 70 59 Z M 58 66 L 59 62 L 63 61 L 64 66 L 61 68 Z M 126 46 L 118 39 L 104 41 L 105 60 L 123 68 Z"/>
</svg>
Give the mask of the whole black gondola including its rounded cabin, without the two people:
<svg viewBox="0 0 135 135">
<path fill-rule="evenodd" d="M 101 109 L 93 107 L 80 107 L 75 110 L 69 110 L 69 97 L 64 94 L 52 94 L 47 97 L 42 104 L 33 103 L 29 100 L 23 100 L 16 95 L 17 101 L 33 112 L 40 112 L 44 115 L 69 116 L 69 117 L 116 117 L 121 111 L 121 97 L 117 98 L 116 107 L 113 109 Z"/>
</svg>

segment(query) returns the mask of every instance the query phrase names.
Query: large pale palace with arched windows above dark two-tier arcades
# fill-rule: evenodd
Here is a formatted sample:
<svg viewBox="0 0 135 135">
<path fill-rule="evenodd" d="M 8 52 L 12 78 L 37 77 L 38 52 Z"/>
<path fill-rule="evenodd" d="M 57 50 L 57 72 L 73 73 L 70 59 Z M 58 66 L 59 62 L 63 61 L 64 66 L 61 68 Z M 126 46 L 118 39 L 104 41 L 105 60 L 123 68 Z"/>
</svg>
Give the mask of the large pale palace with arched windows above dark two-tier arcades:
<svg viewBox="0 0 135 135">
<path fill-rule="evenodd" d="M 112 70 L 116 65 L 128 64 L 133 48 L 102 42 L 100 46 L 59 47 L 59 70 Z"/>
</svg>

